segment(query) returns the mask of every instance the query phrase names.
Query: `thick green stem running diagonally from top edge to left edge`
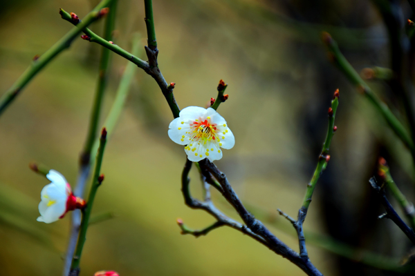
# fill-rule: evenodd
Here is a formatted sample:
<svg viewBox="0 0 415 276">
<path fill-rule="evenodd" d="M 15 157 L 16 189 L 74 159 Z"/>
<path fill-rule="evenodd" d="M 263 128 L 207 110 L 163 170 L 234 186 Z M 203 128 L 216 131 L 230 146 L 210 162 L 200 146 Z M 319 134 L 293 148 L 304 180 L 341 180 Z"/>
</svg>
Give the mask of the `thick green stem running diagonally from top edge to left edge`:
<svg viewBox="0 0 415 276">
<path fill-rule="evenodd" d="M 6 110 L 6 108 L 12 103 L 12 101 L 19 95 L 21 90 L 28 84 L 35 75 L 37 75 L 40 70 L 42 70 L 50 61 L 52 61 L 57 55 L 60 54 L 66 48 L 71 46 L 72 41 L 82 32 L 84 28 L 91 25 L 94 21 L 98 20 L 99 11 L 102 8 L 109 6 L 113 0 L 102 0 L 98 6 L 96 6 L 83 21 L 77 24 L 77 27 L 70 30 L 65 34 L 62 39 L 59 39 L 55 45 L 53 45 L 49 50 L 47 50 L 44 55 L 40 56 L 38 59 L 32 61 L 30 66 L 26 71 L 13 83 L 4 95 L 0 98 L 0 115 Z"/>
</svg>

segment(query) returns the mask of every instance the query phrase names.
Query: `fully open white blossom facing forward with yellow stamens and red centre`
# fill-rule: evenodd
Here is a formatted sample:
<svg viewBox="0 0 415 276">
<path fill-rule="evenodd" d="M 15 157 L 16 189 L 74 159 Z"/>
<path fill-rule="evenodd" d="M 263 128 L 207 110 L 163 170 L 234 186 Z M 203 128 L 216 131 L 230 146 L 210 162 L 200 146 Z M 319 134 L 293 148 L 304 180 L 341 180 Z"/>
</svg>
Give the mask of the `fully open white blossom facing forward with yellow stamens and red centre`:
<svg viewBox="0 0 415 276">
<path fill-rule="evenodd" d="M 187 159 L 193 162 L 208 158 L 222 158 L 221 148 L 229 150 L 235 137 L 228 124 L 213 108 L 189 106 L 169 125 L 169 137 L 175 143 L 185 145 Z"/>
</svg>

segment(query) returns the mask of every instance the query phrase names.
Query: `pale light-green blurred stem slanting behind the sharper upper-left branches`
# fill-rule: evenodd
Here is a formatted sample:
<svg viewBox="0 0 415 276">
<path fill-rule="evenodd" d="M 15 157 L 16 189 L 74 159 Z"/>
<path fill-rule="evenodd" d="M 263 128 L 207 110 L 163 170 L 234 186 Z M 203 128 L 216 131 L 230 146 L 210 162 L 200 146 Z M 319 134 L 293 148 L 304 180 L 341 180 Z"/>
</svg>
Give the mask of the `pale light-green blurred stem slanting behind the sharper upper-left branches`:
<svg viewBox="0 0 415 276">
<path fill-rule="evenodd" d="M 134 55 L 138 55 L 140 52 L 140 35 L 136 34 L 133 38 L 133 48 L 131 52 Z M 104 121 L 104 127 L 107 129 L 107 137 L 111 137 L 114 128 L 120 119 L 121 112 L 124 108 L 125 101 L 127 101 L 127 97 L 129 95 L 131 81 L 133 80 L 134 74 L 137 72 L 137 66 L 134 63 L 129 62 L 125 67 L 124 73 L 122 74 L 122 78 L 120 80 L 120 85 L 118 86 L 118 90 L 116 93 L 116 99 L 113 101 L 113 105 L 111 106 L 111 110 L 107 116 L 107 119 Z M 91 152 L 96 152 L 98 150 L 99 141 L 95 140 Z M 93 164 L 94 158 L 91 158 L 91 164 Z"/>
</svg>

